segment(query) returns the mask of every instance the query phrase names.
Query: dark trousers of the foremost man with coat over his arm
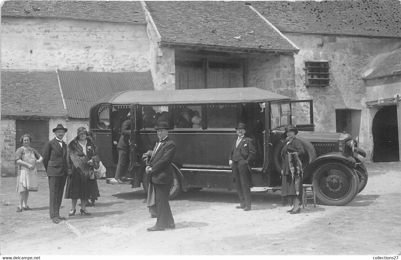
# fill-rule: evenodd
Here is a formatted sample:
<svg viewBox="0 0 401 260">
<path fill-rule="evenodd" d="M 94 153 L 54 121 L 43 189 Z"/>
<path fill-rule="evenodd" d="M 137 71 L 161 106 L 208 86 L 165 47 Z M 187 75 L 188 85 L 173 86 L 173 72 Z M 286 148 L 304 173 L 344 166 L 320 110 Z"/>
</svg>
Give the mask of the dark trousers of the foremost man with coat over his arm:
<svg viewBox="0 0 401 260">
<path fill-rule="evenodd" d="M 170 196 L 171 184 L 153 184 L 155 197 L 156 197 L 156 212 L 157 222 L 156 226 L 166 227 L 174 224 L 174 218 L 171 214 L 170 204 L 168 204 L 168 197 Z"/>
</svg>

